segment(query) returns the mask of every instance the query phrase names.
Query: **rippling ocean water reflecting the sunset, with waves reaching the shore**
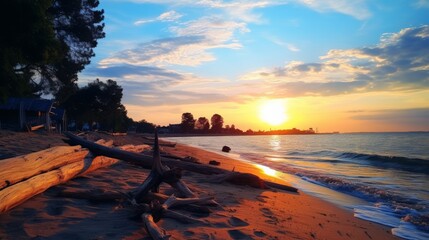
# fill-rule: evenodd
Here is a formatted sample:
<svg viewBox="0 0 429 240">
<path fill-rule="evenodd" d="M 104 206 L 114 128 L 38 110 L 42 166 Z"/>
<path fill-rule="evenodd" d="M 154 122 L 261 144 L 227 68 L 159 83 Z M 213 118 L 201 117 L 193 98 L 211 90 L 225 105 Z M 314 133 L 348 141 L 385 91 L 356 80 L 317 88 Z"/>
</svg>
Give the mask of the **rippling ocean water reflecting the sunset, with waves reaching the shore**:
<svg viewBox="0 0 429 240">
<path fill-rule="evenodd" d="M 310 195 L 429 239 L 429 133 L 207 136 L 165 138 L 262 165 Z M 230 153 L 221 152 L 222 146 Z"/>
</svg>

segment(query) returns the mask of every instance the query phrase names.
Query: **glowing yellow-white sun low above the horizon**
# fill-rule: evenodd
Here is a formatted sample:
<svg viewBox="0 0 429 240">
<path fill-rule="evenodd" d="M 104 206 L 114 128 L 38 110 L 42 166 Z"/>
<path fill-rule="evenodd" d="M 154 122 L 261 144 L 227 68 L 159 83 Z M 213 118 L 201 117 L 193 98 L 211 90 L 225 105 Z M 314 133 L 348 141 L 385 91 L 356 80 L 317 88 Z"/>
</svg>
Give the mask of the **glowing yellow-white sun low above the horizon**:
<svg viewBox="0 0 429 240">
<path fill-rule="evenodd" d="M 278 126 L 288 120 L 284 100 L 267 100 L 260 105 L 259 117 L 271 126 Z"/>
</svg>

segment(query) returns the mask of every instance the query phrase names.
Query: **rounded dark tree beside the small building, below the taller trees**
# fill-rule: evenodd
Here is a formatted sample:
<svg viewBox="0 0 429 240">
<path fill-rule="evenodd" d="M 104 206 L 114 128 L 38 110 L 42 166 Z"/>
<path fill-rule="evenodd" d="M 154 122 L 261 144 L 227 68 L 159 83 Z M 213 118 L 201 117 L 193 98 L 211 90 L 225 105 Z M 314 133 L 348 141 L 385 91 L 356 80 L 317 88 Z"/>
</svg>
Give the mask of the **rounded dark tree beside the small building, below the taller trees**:
<svg viewBox="0 0 429 240">
<path fill-rule="evenodd" d="M 72 95 L 64 106 L 70 120 L 83 123 L 98 122 L 100 128 L 108 131 L 125 131 L 132 120 L 121 103 L 122 88 L 113 80 L 106 83 L 89 83 Z"/>
</svg>

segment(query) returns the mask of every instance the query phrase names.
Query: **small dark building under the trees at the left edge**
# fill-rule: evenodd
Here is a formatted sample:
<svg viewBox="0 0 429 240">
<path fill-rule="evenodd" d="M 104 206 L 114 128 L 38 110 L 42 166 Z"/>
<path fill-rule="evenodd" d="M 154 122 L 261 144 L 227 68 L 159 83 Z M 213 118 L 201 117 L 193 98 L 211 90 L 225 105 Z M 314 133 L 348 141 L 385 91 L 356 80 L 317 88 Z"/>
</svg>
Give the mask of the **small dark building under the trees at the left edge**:
<svg viewBox="0 0 429 240">
<path fill-rule="evenodd" d="M 0 104 L 0 128 L 33 131 L 64 125 L 65 111 L 53 107 L 53 101 L 41 98 L 9 98 Z M 56 125 L 53 125 L 55 123 Z"/>
</svg>

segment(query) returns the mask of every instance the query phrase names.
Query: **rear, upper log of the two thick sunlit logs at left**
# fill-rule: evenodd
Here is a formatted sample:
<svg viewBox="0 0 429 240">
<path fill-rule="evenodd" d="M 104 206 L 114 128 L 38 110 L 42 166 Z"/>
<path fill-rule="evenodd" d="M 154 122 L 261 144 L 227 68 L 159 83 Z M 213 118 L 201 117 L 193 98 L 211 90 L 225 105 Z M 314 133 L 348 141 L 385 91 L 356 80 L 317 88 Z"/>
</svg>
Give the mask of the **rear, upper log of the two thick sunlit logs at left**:
<svg viewBox="0 0 429 240">
<path fill-rule="evenodd" d="M 0 190 L 37 174 L 80 161 L 88 150 L 60 146 L 0 161 Z"/>
</svg>

